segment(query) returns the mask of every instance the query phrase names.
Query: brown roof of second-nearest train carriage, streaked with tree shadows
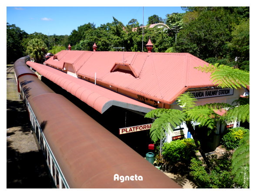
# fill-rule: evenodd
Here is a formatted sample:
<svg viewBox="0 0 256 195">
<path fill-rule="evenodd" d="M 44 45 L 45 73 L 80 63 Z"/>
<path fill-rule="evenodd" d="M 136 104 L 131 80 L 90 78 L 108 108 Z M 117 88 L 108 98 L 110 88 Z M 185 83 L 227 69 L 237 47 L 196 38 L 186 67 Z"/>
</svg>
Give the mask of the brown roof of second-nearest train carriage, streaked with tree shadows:
<svg viewBox="0 0 256 195">
<path fill-rule="evenodd" d="M 37 77 L 32 75 L 21 76 L 19 82 L 28 101 L 30 101 L 31 98 L 44 93 L 55 93 Z"/>
</svg>

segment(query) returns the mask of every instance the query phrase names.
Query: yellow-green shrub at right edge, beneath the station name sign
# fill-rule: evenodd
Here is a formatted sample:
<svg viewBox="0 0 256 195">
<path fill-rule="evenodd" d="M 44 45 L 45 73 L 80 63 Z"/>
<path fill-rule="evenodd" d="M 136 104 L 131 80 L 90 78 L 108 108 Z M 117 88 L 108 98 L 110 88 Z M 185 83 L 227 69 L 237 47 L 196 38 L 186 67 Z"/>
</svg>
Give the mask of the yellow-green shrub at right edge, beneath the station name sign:
<svg viewBox="0 0 256 195">
<path fill-rule="evenodd" d="M 240 139 L 243 138 L 243 135 L 249 132 L 249 129 L 243 127 L 236 127 L 228 129 L 228 132 L 222 138 L 222 145 L 227 149 L 235 149 L 238 147 Z"/>
</svg>

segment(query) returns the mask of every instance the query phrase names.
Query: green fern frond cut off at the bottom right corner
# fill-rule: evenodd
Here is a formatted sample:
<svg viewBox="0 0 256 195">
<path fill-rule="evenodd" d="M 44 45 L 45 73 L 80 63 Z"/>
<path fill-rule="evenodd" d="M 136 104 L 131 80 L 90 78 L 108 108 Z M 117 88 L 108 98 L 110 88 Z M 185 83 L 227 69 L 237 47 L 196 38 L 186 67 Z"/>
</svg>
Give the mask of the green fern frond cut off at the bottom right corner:
<svg viewBox="0 0 256 195">
<path fill-rule="evenodd" d="M 235 181 L 243 188 L 249 188 L 249 132 L 239 142 L 232 155 L 232 173 Z"/>
</svg>

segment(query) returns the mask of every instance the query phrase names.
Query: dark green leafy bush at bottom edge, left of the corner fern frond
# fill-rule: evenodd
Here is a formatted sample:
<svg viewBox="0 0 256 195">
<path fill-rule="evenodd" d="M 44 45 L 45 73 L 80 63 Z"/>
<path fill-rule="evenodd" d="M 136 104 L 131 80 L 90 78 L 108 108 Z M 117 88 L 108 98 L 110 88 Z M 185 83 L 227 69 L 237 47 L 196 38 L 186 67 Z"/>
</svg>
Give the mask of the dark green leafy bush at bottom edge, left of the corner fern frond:
<svg viewBox="0 0 256 195">
<path fill-rule="evenodd" d="M 234 188 L 234 176 L 232 175 L 231 153 L 225 153 L 221 157 L 211 155 L 207 157 L 212 165 L 209 172 L 205 162 L 193 158 L 189 166 L 190 173 L 196 185 L 199 188 Z"/>
</svg>

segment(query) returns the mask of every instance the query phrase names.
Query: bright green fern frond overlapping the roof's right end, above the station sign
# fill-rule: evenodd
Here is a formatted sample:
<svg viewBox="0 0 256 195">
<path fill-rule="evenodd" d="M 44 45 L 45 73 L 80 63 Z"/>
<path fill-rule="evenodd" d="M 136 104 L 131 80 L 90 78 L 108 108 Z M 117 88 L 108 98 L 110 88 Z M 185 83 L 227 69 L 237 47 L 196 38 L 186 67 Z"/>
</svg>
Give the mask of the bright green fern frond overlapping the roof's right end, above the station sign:
<svg viewBox="0 0 256 195">
<path fill-rule="evenodd" d="M 241 69 L 234 69 L 233 67 L 209 64 L 195 67 L 205 73 L 211 73 L 211 80 L 222 88 L 241 88 L 249 85 L 249 72 Z"/>
</svg>

